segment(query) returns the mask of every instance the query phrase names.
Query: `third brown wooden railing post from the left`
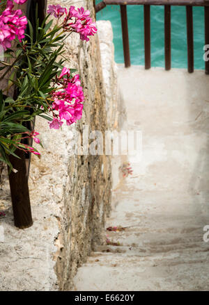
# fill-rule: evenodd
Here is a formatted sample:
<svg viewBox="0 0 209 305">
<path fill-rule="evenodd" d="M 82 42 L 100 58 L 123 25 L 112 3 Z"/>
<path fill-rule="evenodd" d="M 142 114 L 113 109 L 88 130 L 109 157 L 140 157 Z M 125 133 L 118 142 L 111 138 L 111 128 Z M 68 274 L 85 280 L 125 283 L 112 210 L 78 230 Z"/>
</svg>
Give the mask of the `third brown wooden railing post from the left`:
<svg viewBox="0 0 209 305">
<path fill-rule="evenodd" d="M 165 69 L 171 69 L 171 6 L 164 6 L 164 61 Z"/>
</svg>

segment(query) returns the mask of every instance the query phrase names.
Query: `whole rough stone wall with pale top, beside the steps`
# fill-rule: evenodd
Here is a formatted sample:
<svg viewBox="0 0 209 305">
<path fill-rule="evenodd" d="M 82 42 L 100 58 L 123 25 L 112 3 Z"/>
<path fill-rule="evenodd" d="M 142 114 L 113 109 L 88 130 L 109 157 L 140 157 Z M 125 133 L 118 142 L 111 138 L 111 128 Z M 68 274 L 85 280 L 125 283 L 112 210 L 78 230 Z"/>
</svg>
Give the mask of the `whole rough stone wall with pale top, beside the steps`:
<svg viewBox="0 0 209 305">
<path fill-rule="evenodd" d="M 70 0 L 61 4 L 84 6 L 94 15 L 93 1 Z M 104 74 L 108 81 L 103 81 L 98 35 L 90 42 L 70 35 L 65 57 L 66 66 L 76 68 L 82 79 L 84 115 L 75 126 L 63 126 L 59 131 L 49 130 L 46 120 L 36 119 L 44 149 L 37 147 L 41 157 L 33 156 L 31 160 L 29 189 L 34 223 L 29 229 L 19 230 L 13 225 L 6 170 L 3 171 L 0 208 L 6 217 L 0 219 L 5 232 L 5 242 L 0 242 L 0 290 L 70 290 L 77 267 L 95 245 L 104 242 L 101 232 L 111 209 L 111 159 L 72 154 L 72 143 L 84 126 L 104 134 L 115 125 L 116 112 L 112 115 L 109 110 L 116 109 L 117 86 L 115 83 L 111 97 L 109 85 L 115 82 L 115 74 Z M 114 69 L 110 67 L 110 71 Z"/>
</svg>

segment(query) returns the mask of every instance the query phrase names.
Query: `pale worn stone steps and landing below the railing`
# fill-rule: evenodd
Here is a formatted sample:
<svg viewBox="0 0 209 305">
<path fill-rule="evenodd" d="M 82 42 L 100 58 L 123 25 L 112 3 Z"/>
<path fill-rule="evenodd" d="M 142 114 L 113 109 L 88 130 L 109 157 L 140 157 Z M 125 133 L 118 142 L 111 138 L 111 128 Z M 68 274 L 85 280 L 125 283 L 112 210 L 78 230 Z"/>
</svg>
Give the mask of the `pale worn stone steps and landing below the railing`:
<svg viewBox="0 0 209 305">
<path fill-rule="evenodd" d="M 120 66 L 118 80 L 143 154 L 114 189 L 107 227 L 126 229 L 105 233 L 119 244 L 91 254 L 75 290 L 208 290 L 209 77 Z"/>
</svg>

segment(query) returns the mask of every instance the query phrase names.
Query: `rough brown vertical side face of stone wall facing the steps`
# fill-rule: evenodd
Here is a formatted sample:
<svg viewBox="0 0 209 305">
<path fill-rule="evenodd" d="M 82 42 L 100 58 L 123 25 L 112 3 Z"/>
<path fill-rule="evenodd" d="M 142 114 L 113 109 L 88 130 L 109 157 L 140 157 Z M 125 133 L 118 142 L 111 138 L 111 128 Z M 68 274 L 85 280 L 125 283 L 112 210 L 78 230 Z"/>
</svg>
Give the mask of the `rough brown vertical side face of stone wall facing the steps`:
<svg viewBox="0 0 209 305">
<path fill-rule="evenodd" d="M 65 1 L 67 2 L 69 6 L 73 5 L 73 2 L 77 6 L 77 1 Z M 94 15 L 93 1 L 79 1 L 79 6 L 84 6 Z M 77 267 L 85 261 L 94 245 L 102 242 L 101 230 L 111 202 L 110 158 L 70 156 L 69 145 L 69 142 L 74 140 L 75 129 L 82 132 L 83 126 L 86 125 L 90 131 L 99 130 L 104 133 L 108 129 L 97 35 L 87 43 L 79 40 L 78 35 L 71 35 L 65 44 L 65 56 L 69 60 L 69 67 L 76 68 L 79 72 L 86 101 L 84 116 L 76 126 L 64 128 L 59 135 L 56 131 L 48 131 L 48 138 L 44 141 L 49 143 L 45 145 L 47 147 L 63 147 L 52 152 L 52 155 L 56 154 L 59 163 L 56 161 L 54 164 L 57 168 L 56 176 L 51 179 L 54 190 L 59 192 L 55 192 L 55 196 L 60 195 L 62 200 L 61 214 L 58 218 L 60 232 L 56 240 L 59 249 L 55 256 L 56 274 L 61 290 L 71 288 L 72 277 Z M 37 122 L 36 129 L 42 129 L 42 122 Z M 46 157 L 47 152 L 48 149 L 44 153 Z M 52 156 L 53 160 L 54 157 Z M 51 168 L 54 172 L 53 167 Z"/>
</svg>

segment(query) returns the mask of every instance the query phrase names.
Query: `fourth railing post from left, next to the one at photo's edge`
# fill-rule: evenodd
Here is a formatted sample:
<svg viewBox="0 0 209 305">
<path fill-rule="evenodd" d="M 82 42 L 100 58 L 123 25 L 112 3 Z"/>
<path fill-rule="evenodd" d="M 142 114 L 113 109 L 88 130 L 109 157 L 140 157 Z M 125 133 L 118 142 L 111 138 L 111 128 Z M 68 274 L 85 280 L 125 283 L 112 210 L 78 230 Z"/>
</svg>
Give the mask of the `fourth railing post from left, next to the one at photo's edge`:
<svg viewBox="0 0 209 305">
<path fill-rule="evenodd" d="M 194 72 L 194 38 L 193 38 L 193 15 L 192 6 L 187 6 L 187 58 L 188 72 Z"/>
</svg>

